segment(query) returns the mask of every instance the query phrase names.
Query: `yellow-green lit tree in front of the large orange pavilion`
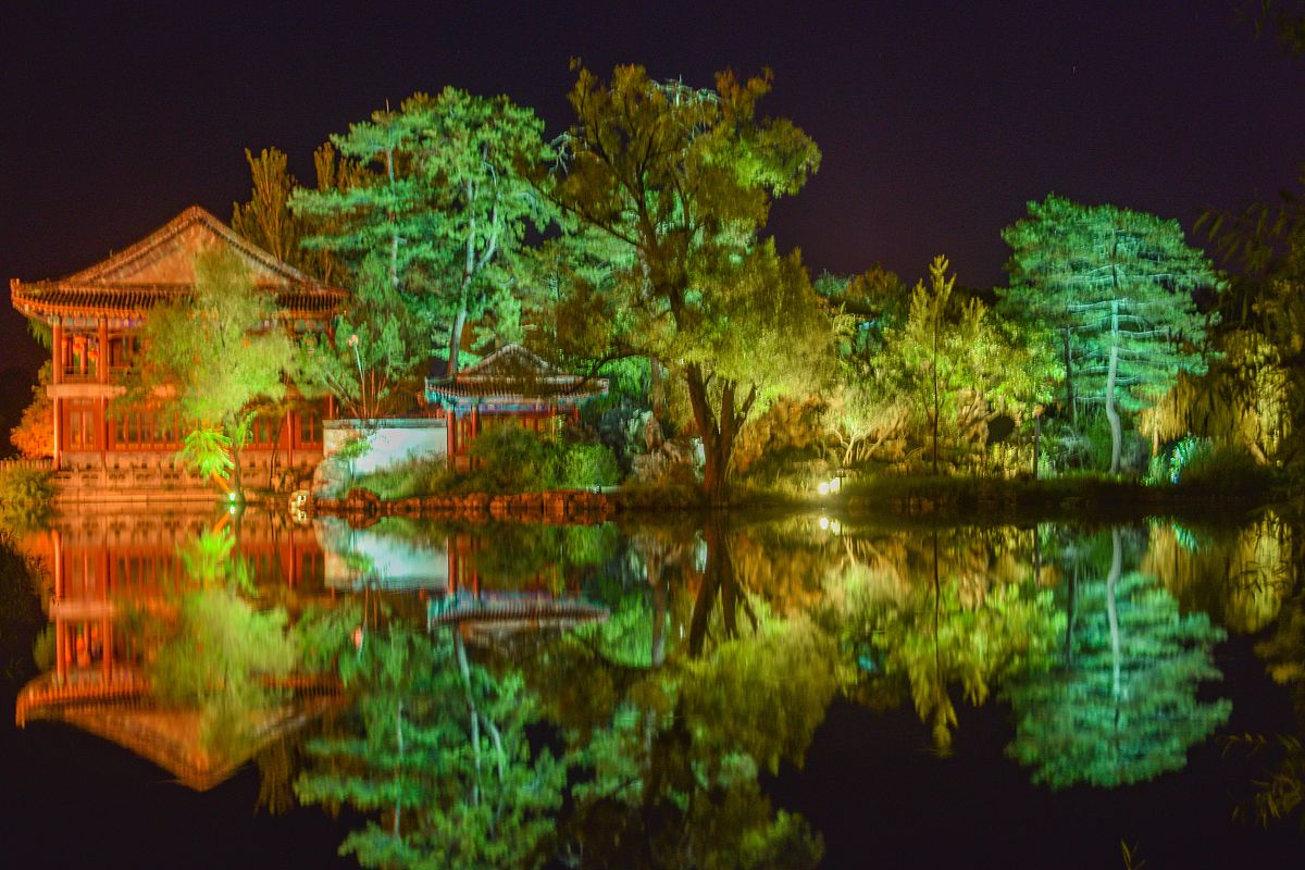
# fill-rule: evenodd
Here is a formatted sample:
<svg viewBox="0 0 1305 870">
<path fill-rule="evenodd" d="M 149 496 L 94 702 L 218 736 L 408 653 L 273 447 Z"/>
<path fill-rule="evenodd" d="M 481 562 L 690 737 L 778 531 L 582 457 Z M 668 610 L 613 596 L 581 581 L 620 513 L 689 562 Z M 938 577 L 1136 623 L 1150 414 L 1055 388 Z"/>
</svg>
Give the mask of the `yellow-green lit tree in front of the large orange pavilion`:
<svg viewBox="0 0 1305 870">
<path fill-rule="evenodd" d="M 275 300 L 254 286 L 234 252 L 198 254 L 194 275 L 193 293 L 150 312 L 145 352 L 117 402 L 197 421 L 184 455 L 205 473 L 230 477 L 231 493 L 243 501 L 240 450 L 258 404 L 286 394 L 292 344 Z"/>
</svg>

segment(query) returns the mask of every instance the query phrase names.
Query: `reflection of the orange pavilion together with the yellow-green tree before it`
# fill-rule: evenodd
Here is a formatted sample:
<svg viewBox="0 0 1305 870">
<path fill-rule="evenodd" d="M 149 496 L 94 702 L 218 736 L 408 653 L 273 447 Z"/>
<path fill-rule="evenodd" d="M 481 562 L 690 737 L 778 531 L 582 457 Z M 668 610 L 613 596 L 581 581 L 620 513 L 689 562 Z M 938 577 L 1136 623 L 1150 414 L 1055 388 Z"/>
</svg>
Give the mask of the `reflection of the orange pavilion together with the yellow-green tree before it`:
<svg viewBox="0 0 1305 870">
<path fill-rule="evenodd" d="M 296 670 L 287 633 L 286 604 L 320 583 L 303 532 L 78 517 L 27 545 L 48 569 L 50 625 L 18 724 L 69 723 L 202 790 L 335 703 L 333 677 Z"/>
</svg>

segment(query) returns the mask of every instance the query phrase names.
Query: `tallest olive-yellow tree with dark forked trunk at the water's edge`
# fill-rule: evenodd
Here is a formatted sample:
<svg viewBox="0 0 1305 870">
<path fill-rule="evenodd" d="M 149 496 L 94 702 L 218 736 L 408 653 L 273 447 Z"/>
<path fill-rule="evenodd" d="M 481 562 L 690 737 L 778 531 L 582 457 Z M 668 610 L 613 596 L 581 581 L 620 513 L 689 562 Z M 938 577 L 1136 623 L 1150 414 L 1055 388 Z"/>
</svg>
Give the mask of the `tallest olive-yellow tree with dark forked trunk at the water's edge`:
<svg viewBox="0 0 1305 870">
<path fill-rule="evenodd" d="M 769 90 L 769 76 L 726 72 L 715 90 L 694 90 L 655 82 L 642 67 L 617 67 L 606 82 L 581 68 L 551 187 L 581 230 L 628 254 L 609 293 L 611 308 L 633 317 L 613 340 L 680 378 L 713 501 L 749 413 L 809 386 L 833 347 L 797 254 L 780 257 L 760 235 L 770 203 L 820 164 L 792 123 L 758 117 Z"/>
</svg>

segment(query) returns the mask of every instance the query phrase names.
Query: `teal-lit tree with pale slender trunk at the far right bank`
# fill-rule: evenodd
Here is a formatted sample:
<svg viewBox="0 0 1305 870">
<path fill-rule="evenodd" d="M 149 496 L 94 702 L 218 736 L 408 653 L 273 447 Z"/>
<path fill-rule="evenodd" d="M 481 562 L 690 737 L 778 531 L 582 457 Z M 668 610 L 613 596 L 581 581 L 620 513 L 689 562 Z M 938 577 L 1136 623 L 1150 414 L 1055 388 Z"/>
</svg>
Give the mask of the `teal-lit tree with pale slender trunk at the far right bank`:
<svg viewBox="0 0 1305 870">
<path fill-rule="evenodd" d="M 1139 411 L 1180 372 L 1206 368 L 1212 320 L 1194 300 L 1218 290 L 1210 261 L 1177 220 L 1048 196 L 1002 233 L 1011 247 L 1005 303 L 1057 330 L 1067 403 L 1100 402 L 1111 424 L 1111 473 L 1120 471 L 1120 410 Z"/>
</svg>

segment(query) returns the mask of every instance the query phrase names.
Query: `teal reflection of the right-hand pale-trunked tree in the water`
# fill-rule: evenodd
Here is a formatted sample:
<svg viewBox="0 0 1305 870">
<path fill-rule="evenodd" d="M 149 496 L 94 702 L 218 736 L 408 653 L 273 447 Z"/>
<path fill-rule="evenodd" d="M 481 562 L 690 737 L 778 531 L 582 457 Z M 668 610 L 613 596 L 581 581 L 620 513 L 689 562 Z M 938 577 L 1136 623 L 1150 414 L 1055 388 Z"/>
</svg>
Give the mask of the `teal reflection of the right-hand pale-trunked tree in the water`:
<svg viewBox="0 0 1305 870">
<path fill-rule="evenodd" d="M 1117 528 L 1104 582 L 1079 579 L 1067 591 L 1060 661 L 1006 685 L 1015 713 L 1007 753 L 1053 788 L 1180 770 L 1188 747 L 1231 711 L 1227 700 L 1197 700 L 1199 683 L 1220 677 L 1211 647 L 1223 631 L 1203 613 L 1181 616 L 1154 578 L 1124 574 Z"/>
</svg>

